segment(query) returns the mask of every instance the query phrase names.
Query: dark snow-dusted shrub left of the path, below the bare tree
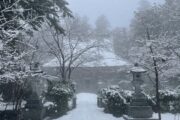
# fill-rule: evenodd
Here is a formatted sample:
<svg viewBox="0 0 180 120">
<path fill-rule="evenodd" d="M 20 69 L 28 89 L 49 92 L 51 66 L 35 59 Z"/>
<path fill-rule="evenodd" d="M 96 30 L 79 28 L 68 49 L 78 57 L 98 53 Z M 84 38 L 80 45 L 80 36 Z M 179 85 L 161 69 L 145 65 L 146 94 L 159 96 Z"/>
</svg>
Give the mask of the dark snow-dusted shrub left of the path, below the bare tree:
<svg viewBox="0 0 180 120">
<path fill-rule="evenodd" d="M 70 83 L 58 83 L 48 90 L 46 97 L 48 101 L 52 101 L 54 106 L 49 109 L 51 113 L 64 115 L 69 110 L 68 101 L 74 96 L 74 90 Z"/>
</svg>

